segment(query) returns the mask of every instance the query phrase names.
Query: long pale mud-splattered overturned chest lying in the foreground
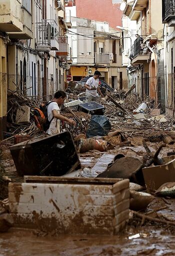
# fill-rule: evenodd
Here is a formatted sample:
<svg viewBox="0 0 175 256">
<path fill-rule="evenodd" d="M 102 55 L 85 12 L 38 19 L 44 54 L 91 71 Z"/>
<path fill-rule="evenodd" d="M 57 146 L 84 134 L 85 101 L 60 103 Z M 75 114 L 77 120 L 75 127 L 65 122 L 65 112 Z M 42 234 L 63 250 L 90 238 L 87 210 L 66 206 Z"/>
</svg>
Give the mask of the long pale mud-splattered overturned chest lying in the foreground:
<svg viewBox="0 0 175 256">
<path fill-rule="evenodd" d="M 25 177 L 9 184 L 16 227 L 48 232 L 115 234 L 129 213 L 129 180 Z"/>
</svg>

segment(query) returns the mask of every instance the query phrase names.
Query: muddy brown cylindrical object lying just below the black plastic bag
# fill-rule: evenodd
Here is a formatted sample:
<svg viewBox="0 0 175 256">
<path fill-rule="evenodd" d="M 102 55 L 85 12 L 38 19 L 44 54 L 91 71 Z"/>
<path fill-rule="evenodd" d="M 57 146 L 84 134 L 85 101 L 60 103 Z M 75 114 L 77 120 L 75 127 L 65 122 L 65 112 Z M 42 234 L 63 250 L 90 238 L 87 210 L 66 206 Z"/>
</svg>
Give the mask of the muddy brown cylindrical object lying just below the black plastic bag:
<svg viewBox="0 0 175 256">
<path fill-rule="evenodd" d="M 107 142 L 94 139 L 80 139 L 79 152 L 85 153 L 89 150 L 98 150 L 100 152 L 105 152 L 107 151 Z"/>
</svg>

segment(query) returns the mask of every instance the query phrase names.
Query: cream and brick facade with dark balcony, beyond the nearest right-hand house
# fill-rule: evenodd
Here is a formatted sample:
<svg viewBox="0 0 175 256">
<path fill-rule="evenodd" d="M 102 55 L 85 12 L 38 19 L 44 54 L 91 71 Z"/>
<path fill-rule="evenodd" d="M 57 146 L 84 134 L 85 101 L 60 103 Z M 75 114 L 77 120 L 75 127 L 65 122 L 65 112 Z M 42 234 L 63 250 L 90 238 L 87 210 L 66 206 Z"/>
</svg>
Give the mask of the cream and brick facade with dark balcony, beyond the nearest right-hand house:
<svg viewBox="0 0 175 256">
<path fill-rule="evenodd" d="M 164 43 L 161 21 L 161 1 L 127 0 L 122 20 L 136 22 L 139 37 L 132 39 L 129 51 L 128 79 L 130 86 L 136 84 L 136 91 L 150 96 L 165 110 L 164 87 Z M 157 3 L 158 2 L 158 3 Z M 133 36 L 131 31 L 131 37 Z M 132 37 L 133 38 L 133 37 Z M 124 47 L 124 46 L 123 46 Z"/>
</svg>

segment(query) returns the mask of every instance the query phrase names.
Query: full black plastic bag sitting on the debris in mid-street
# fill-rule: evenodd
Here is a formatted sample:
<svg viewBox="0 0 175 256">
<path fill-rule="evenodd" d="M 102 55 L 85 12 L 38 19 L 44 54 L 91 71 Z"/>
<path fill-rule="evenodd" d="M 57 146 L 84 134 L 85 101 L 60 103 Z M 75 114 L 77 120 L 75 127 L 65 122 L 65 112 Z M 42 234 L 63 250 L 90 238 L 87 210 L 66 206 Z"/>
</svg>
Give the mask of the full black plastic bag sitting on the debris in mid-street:
<svg viewBox="0 0 175 256">
<path fill-rule="evenodd" d="M 89 129 L 86 132 L 87 138 L 94 136 L 106 136 L 111 129 L 108 118 L 104 115 L 92 115 Z"/>
</svg>

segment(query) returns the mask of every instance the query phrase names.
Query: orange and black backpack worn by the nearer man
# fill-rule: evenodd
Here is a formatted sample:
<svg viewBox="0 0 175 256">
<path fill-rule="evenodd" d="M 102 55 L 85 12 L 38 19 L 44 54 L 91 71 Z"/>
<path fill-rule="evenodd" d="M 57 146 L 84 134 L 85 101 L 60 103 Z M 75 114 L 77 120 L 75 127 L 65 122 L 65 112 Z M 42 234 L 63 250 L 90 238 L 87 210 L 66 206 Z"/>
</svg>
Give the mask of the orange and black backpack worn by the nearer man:
<svg viewBox="0 0 175 256">
<path fill-rule="evenodd" d="M 33 111 L 34 122 L 38 129 L 42 132 L 46 132 L 50 126 L 54 116 L 48 121 L 47 106 L 54 101 L 49 101 L 45 104 L 41 104 L 40 107 L 35 107 Z"/>
</svg>

